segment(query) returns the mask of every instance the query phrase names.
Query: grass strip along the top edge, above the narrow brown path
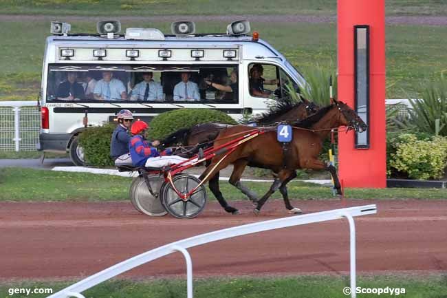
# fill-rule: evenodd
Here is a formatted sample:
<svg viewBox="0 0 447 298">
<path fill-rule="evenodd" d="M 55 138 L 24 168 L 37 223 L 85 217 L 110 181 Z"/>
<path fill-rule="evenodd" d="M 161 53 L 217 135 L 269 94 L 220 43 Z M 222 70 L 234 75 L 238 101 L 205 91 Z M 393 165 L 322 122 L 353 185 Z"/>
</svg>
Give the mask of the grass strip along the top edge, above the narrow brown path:
<svg viewBox="0 0 447 298">
<path fill-rule="evenodd" d="M 336 0 L 3 0 L 1 14 L 154 16 L 162 14 L 336 14 Z M 388 15 L 446 15 L 439 0 L 386 0 Z"/>
</svg>

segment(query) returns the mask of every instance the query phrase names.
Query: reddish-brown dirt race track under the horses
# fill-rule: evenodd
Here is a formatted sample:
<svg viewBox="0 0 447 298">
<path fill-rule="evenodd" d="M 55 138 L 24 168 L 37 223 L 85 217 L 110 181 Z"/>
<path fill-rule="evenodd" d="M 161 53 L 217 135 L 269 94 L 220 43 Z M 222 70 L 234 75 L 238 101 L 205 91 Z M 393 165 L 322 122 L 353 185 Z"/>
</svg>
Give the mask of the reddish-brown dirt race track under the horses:
<svg viewBox="0 0 447 298">
<path fill-rule="evenodd" d="M 193 220 L 147 217 L 130 202 L 0 203 L 0 279 L 82 277 L 176 240 L 221 228 L 285 216 L 282 201 L 262 215 L 235 202 L 227 215 L 212 202 Z M 447 270 L 447 201 L 348 201 L 378 204 L 377 215 L 356 217 L 359 273 Z M 306 213 L 341 208 L 340 201 L 294 202 Z M 246 235 L 190 249 L 195 276 L 345 273 L 349 270 L 346 220 Z M 124 277 L 186 272 L 179 254 L 140 266 Z"/>
</svg>

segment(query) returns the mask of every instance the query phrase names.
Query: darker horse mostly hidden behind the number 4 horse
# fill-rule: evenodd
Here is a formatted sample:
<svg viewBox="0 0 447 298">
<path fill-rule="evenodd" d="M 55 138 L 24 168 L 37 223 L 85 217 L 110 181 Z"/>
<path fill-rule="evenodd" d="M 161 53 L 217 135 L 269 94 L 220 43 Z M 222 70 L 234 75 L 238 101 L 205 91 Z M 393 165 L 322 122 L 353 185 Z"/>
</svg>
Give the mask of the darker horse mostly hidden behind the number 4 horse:
<svg viewBox="0 0 447 298">
<path fill-rule="evenodd" d="M 278 123 L 279 121 L 287 121 L 292 122 L 300 119 L 304 119 L 309 115 L 315 114 L 316 111 L 318 111 L 320 107 L 316 105 L 315 103 L 309 102 L 309 100 L 306 100 L 302 98 L 302 102 L 300 103 L 291 103 L 290 101 L 281 102 L 276 107 L 273 107 L 270 109 L 270 111 L 261 114 L 258 118 L 255 119 L 257 125 L 270 125 L 274 123 Z M 211 147 L 213 145 L 213 141 L 219 135 L 219 132 L 223 129 L 228 129 L 232 127 L 232 125 L 225 125 L 220 123 L 204 123 L 201 125 L 195 125 L 195 127 L 192 127 L 191 129 L 179 129 L 178 131 L 175 131 L 175 133 L 169 135 L 166 137 L 162 144 L 164 147 L 172 146 L 176 142 L 180 142 L 182 145 L 185 146 L 194 146 L 199 144 L 199 147 Z M 252 128 L 252 127 L 251 127 Z M 195 147 L 197 149 L 197 146 Z M 191 150 L 191 151 L 194 151 Z M 186 157 L 186 156 L 185 156 Z M 210 164 L 210 161 L 208 160 L 206 162 L 206 165 L 208 166 Z M 254 162 L 248 162 L 249 167 L 261 167 L 265 168 L 262 164 L 257 164 Z M 243 167 L 241 173 L 237 172 L 235 173 L 235 170 L 237 167 L 235 166 L 235 169 L 233 169 L 232 175 L 233 176 L 240 176 L 242 175 Z M 296 175 L 296 173 L 295 173 Z M 242 191 L 252 202 L 257 202 L 257 194 L 250 191 L 250 189 L 246 188 L 241 182 L 237 180 L 232 180 L 230 178 L 230 183 L 233 184 L 235 187 L 237 187 L 239 190 Z M 275 176 L 276 184 L 279 183 L 279 179 Z M 239 211 L 232 206 L 228 206 L 226 204 L 226 200 L 223 198 L 223 195 L 219 188 L 219 171 L 215 173 L 210 179 L 209 179 L 209 188 L 212 191 L 212 193 L 215 195 L 217 200 L 221 203 L 221 206 L 227 211 L 228 213 L 232 214 L 238 214 Z M 223 203 L 225 202 L 225 203 Z"/>
</svg>

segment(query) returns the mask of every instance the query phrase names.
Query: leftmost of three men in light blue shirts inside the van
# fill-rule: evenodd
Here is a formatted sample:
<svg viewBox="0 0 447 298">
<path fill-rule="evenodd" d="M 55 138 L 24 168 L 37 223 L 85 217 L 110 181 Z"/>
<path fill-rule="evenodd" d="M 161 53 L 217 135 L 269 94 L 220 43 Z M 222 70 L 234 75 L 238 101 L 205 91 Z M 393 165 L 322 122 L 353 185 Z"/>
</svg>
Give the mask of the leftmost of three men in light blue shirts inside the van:
<svg viewBox="0 0 447 298">
<path fill-rule="evenodd" d="M 126 87 L 112 72 L 102 72 L 102 79 L 96 82 L 94 89 L 96 100 L 127 100 Z"/>
</svg>

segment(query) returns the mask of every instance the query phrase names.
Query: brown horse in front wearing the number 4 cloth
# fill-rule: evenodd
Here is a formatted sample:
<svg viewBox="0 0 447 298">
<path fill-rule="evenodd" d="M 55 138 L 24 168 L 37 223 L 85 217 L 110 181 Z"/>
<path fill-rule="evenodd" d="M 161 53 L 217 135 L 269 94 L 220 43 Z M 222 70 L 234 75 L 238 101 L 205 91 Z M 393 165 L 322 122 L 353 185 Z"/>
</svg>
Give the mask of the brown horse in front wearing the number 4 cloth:
<svg viewBox="0 0 447 298">
<path fill-rule="evenodd" d="M 329 171 L 332 178 L 334 178 L 334 187 L 336 188 L 337 193 L 341 194 L 336 168 L 327 165 L 325 162 L 318 159 L 323 140 L 327 138 L 330 130 L 333 128 L 347 126 L 347 129 L 355 129 L 356 131 L 362 132 L 367 129 L 367 125 L 359 116 L 357 116 L 353 109 L 341 101 L 334 100 L 334 104 L 323 107 L 313 116 L 298 121 L 292 126 L 294 127 L 292 130 L 293 137 L 292 142 L 290 143 L 290 153 L 288 154 L 287 159 L 283 156 L 283 147 L 281 143 L 276 140 L 276 128 L 265 128 L 264 134 L 260 134 L 256 138 L 239 145 L 235 151 L 228 153 L 227 156 L 226 153 L 223 152 L 219 154 L 219 156 L 212 158 L 211 164 L 200 176 L 200 180 L 209 180 L 221 169 L 227 167 L 228 164 L 233 164 L 234 169 L 230 177 L 230 184 L 235 185 L 245 193 L 245 191 L 241 189 L 240 178 L 243 170 L 248 164 L 256 164 L 259 167 L 271 169 L 278 175 L 279 180 L 275 180 L 269 191 L 263 195 L 261 200 L 256 202 L 257 206 L 256 209 L 254 209 L 255 213 L 261 211 L 265 201 L 267 201 L 270 195 L 277 189 L 281 191 L 285 207 L 289 212 L 301 213 L 300 209 L 294 208 L 290 204 L 286 187 L 286 184 L 296 177 L 296 169 L 324 169 Z M 243 131 L 252 131 L 252 129 L 254 129 L 254 127 L 245 125 L 228 127 L 220 132 L 219 136 L 215 139 L 214 145 L 215 147 L 223 145 L 228 142 L 228 136 L 233 136 Z M 226 157 L 223 158 L 224 156 Z M 219 190 L 217 189 L 215 191 Z M 221 195 L 216 198 L 226 211 L 235 209 L 228 205 Z M 235 210 L 237 211 L 237 209 Z M 235 211 L 232 213 L 235 213 Z"/>
</svg>

